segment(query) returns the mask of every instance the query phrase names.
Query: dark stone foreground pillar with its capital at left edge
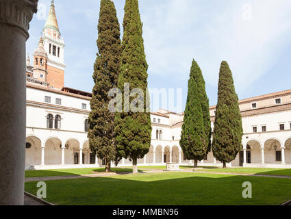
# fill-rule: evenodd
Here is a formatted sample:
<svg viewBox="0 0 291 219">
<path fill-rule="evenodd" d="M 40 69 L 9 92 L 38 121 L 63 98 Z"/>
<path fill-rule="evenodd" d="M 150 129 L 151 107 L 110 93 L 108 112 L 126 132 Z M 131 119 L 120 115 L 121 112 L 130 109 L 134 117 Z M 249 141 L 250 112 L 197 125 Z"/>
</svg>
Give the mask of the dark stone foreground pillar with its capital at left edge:
<svg viewBox="0 0 291 219">
<path fill-rule="evenodd" d="M 23 205 L 25 42 L 38 0 L 0 0 L 0 205 Z"/>
</svg>

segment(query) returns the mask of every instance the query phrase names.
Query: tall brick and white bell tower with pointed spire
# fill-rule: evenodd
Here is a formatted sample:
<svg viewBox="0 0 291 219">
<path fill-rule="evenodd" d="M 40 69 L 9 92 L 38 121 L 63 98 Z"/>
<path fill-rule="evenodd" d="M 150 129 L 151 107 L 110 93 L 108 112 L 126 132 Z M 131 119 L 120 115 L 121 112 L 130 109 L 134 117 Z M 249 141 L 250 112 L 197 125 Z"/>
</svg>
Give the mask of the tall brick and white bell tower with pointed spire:
<svg viewBox="0 0 291 219">
<path fill-rule="evenodd" d="M 55 5 L 51 1 L 49 16 L 43 29 L 43 44 L 47 51 L 47 82 L 49 87 L 62 89 L 64 87 L 64 39 L 61 38 Z"/>
</svg>

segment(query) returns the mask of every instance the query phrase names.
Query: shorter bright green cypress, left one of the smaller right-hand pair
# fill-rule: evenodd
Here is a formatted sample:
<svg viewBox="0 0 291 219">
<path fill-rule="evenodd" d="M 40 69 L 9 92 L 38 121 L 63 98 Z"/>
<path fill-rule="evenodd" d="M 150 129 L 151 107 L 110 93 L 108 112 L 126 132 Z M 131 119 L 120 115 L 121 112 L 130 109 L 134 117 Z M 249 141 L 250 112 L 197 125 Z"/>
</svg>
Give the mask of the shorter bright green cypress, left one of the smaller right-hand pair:
<svg viewBox="0 0 291 219">
<path fill-rule="evenodd" d="M 194 159 L 194 167 L 210 151 L 209 101 L 205 91 L 205 81 L 201 69 L 192 61 L 188 96 L 182 125 L 180 145 L 187 159 Z"/>
</svg>

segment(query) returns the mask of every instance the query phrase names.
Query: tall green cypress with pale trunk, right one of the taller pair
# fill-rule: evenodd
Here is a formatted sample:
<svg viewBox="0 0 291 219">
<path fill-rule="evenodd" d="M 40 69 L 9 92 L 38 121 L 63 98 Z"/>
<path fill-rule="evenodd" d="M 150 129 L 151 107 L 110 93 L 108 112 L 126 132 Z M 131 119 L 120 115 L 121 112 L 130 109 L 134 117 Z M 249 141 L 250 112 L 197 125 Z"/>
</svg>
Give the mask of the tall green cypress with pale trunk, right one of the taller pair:
<svg viewBox="0 0 291 219">
<path fill-rule="evenodd" d="M 124 95 L 123 112 L 116 113 L 116 147 L 117 160 L 121 157 L 132 160 L 133 172 L 137 173 L 137 160 L 149 153 L 151 146 L 151 115 L 149 103 L 146 101 L 147 90 L 147 61 L 144 53 L 144 41 L 142 39 L 142 22 L 138 9 L 138 0 L 125 1 L 125 16 L 123 21 L 123 52 L 121 55 L 121 71 L 118 79 L 118 88 Z M 142 96 L 128 96 L 125 83 L 129 83 L 130 90 L 139 88 Z M 128 100 L 129 99 L 129 100 Z M 142 112 L 133 112 L 134 100 L 144 100 Z M 129 109 L 130 111 L 127 112 Z"/>
</svg>

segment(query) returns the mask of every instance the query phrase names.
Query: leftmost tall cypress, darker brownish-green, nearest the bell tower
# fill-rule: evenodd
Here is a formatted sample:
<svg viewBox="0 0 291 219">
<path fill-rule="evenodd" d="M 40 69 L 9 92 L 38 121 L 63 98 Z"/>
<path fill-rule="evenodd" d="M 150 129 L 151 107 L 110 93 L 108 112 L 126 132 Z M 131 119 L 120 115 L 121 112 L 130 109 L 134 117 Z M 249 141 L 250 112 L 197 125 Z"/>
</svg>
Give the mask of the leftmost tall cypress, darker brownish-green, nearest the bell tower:
<svg viewBox="0 0 291 219">
<path fill-rule="evenodd" d="M 114 118 L 108 104 L 112 97 L 110 89 L 116 88 L 121 61 L 120 25 L 114 3 L 101 0 L 97 46 L 99 53 L 94 64 L 94 88 L 90 101 L 88 138 L 90 150 L 101 159 L 105 159 L 105 171 L 110 170 L 110 163 L 115 159 Z"/>
</svg>

